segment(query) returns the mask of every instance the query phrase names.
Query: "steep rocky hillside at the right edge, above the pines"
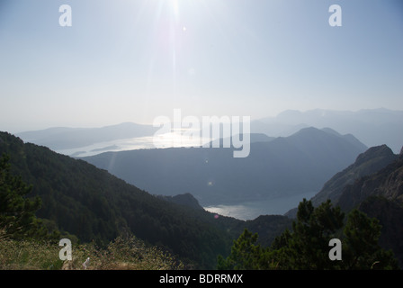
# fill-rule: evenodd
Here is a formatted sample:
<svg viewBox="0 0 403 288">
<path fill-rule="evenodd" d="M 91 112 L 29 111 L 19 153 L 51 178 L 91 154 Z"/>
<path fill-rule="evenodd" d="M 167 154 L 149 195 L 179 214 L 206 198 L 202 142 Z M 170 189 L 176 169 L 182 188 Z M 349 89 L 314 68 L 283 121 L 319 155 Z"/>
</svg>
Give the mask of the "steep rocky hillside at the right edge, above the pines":
<svg viewBox="0 0 403 288">
<path fill-rule="evenodd" d="M 318 206 L 327 199 L 343 211 L 357 208 L 380 220 L 381 247 L 391 249 L 403 266 L 403 153 L 393 154 L 386 145 L 369 148 L 328 180 L 311 201 Z M 295 208 L 286 215 L 294 218 L 296 212 Z"/>
</svg>

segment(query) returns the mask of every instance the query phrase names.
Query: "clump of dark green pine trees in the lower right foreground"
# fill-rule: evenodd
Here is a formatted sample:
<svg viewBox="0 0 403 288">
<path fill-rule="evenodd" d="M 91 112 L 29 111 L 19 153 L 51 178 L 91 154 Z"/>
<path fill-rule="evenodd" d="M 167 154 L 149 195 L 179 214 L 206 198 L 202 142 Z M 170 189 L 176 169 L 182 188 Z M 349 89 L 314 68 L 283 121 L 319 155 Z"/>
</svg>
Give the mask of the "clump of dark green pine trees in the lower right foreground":
<svg viewBox="0 0 403 288">
<path fill-rule="evenodd" d="M 219 257 L 219 269 L 399 269 L 393 253 L 378 244 L 381 225 L 361 211 L 348 214 L 330 200 L 314 208 L 303 200 L 292 230 L 286 229 L 270 247 L 255 245 L 258 235 L 245 230 L 231 248 Z M 342 259 L 329 258 L 329 241 L 340 238 Z"/>
</svg>

